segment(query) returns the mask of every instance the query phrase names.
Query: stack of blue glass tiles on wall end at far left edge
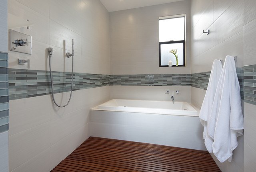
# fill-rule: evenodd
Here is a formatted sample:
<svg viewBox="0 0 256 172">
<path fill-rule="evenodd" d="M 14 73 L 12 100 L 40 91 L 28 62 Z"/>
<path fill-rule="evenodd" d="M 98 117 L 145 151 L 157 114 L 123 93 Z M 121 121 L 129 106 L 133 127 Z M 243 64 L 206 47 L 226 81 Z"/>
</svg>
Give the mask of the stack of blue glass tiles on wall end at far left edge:
<svg viewBox="0 0 256 172">
<path fill-rule="evenodd" d="M 8 54 L 0 53 L 0 133 L 9 130 Z"/>
</svg>

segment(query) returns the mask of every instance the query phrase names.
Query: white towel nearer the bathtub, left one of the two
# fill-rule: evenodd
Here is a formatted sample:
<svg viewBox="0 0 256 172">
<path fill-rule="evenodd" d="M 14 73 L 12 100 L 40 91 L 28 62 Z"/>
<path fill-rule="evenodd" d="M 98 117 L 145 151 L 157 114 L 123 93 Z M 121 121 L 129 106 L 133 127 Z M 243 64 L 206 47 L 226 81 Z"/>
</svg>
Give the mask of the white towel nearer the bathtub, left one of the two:
<svg viewBox="0 0 256 172">
<path fill-rule="evenodd" d="M 209 84 L 207 86 L 206 94 L 204 96 L 204 101 L 199 113 L 199 118 L 201 119 L 201 124 L 204 126 L 203 138 L 205 140 L 207 134 L 207 121 L 212 110 L 213 100 L 217 88 L 218 81 L 220 79 L 220 73 L 222 71 L 222 64 L 220 60 L 214 60 L 212 64 L 212 70 L 209 78 Z M 208 136 L 207 136 L 208 137 Z M 208 138 L 210 139 L 210 138 Z M 205 143 L 207 150 L 212 153 L 212 143 Z"/>
</svg>

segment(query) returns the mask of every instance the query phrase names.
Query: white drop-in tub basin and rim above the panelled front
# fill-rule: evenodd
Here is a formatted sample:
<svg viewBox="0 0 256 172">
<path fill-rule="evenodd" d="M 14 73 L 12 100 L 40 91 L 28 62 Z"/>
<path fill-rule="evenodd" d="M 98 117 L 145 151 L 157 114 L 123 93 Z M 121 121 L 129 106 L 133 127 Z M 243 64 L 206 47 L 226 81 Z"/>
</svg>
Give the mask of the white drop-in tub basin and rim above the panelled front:
<svg viewBox="0 0 256 172">
<path fill-rule="evenodd" d="M 112 99 L 91 110 L 198 116 L 198 111 L 187 102 L 171 101 Z"/>
</svg>

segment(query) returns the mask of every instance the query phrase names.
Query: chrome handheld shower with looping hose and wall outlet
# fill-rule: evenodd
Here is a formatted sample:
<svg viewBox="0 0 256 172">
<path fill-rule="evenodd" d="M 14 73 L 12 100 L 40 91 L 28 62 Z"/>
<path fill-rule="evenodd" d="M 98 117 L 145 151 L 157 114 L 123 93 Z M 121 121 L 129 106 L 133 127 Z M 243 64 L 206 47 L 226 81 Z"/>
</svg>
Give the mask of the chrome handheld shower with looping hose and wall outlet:
<svg viewBox="0 0 256 172">
<path fill-rule="evenodd" d="M 52 88 L 52 101 L 54 102 L 54 104 L 60 108 L 64 108 L 65 106 L 67 106 L 71 100 L 72 97 L 72 90 L 73 90 L 73 77 L 74 77 L 74 39 L 72 39 L 72 54 L 71 53 L 66 53 L 66 56 L 68 58 L 70 58 L 72 56 L 72 78 L 71 78 L 71 90 L 70 90 L 70 96 L 68 99 L 68 102 L 64 105 L 58 105 L 55 101 L 54 98 L 54 92 L 53 92 L 53 78 L 52 78 L 52 68 L 51 68 L 51 58 L 52 58 L 52 53 L 53 53 L 53 48 L 49 47 L 48 49 L 48 53 L 49 53 L 49 67 L 50 67 L 50 77 L 51 77 L 51 88 Z"/>
</svg>

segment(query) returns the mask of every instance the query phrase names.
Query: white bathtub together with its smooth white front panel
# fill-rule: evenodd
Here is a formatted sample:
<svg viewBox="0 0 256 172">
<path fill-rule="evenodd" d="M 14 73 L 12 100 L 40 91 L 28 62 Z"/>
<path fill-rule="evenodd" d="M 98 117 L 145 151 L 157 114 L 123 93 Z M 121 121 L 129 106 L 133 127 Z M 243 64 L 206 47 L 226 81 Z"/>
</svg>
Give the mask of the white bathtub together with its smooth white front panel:
<svg viewBox="0 0 256 172">
<path fill-rule="evenodd" d="M 113 99 L 90 110 L 90 131 L 94 137 L 206 151 L 198 111 L 187 102 Z"/>
</svg>

